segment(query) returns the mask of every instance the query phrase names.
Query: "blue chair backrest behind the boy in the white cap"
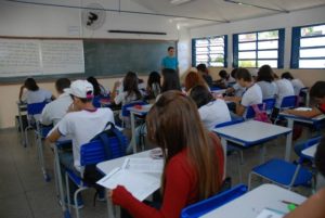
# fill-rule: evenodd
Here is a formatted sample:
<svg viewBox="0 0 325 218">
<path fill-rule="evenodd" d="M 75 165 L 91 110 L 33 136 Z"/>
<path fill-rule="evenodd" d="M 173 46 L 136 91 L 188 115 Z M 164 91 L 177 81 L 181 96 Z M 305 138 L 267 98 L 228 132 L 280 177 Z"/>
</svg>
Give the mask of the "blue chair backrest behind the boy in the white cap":
<svg viewBox="0 0 325 218">
<path fill-rule="evenodd" d="M 125 138 L 127 140 L 127 138 Z M 116 137 L 109 140 L 110 158 L 121 157 L 126 154 L 126 148 L 120 148 L 119 141 Z M 94 140 L 81 145 L 80 149 L 80 164 L 81 166 L 98 164 L 107 161 L 106 152 L 103 143 L 100 140 Z"/>
</svg>

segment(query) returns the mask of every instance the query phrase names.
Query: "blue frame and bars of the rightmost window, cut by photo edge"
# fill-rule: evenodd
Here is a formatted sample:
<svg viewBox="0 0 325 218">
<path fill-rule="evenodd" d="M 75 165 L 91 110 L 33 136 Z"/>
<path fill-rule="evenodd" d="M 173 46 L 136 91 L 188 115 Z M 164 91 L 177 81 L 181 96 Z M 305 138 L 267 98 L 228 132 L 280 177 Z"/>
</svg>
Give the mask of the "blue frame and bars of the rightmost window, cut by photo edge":
<svg viewBox="0 0 325 218">
<path fill-rule="evenodd" d="M 299 61 L 300 60 L 325 60 L 324 56 L 317 56 L 317 57 L 300 57 L 300 50 L 304 49 L 325 49 L 325 46 L 315 46 L 315 47 L 303 47 L 300 48 L 300 40 L 301 39 L 310 39 L 310 38 L 318 38 L 318 37 L 325 37 L 325 34 L 318 35 L 318 36 L 301 36 L 301 29 L 306 27 L 315 27 L 315 26 L 324 26 L 325 23 L 320 24 L 311 24 L 311 25 L 304 25 L 304 26 L 294 26 L 291 30 L 291 56 L 290 56 L 290 68 L 297 68 L 297 69 L 324 69 L 324 67 L 320 68 L 309 68 L 309 67 L 300 67 Z"/>
</svg>

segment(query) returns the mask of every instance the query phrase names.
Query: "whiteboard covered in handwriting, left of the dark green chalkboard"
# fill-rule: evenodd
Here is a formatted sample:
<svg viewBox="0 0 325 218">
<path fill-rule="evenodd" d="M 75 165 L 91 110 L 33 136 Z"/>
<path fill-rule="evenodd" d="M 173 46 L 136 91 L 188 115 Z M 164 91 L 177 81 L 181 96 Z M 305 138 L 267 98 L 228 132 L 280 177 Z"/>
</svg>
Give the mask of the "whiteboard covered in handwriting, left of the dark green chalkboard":
<svg viewBox="0 0 325 218">
<path fill-rule="evenodd" d="M 0 77 L 84 73 L 82 40 L 0 38 Z"/>
</svg>

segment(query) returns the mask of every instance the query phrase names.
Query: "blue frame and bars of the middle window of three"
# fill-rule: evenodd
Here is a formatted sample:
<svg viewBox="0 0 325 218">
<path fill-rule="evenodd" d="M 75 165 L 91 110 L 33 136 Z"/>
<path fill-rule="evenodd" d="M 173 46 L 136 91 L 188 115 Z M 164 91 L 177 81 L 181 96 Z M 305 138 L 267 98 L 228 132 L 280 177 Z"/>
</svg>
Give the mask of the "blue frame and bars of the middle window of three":
<svg viewBox="0 0 325 218">
<path fill-rule="evenodd" d="M 277 39 L 260 39 L 258 35 L 263 31 L 278 31 L 278 38 Z M 248 35 L 248 34 L 255 34 L 256 40 L 249 40 L 249 41 L 243 41 L 239 42 L 239 35 Z M 277 49 L 258 49 L 258 43 L 263 41 L 277 41 Z M 255 59 L 239 59 L 239 43 L 256 43 L 256 49 L 251 50 L 240 50 L 240 52 L 256 52 Z M 284 68 L 284 49 L 285 49 L 285 28 L 276 28 L 276 29 L 263 29 L 258 31 L 247 31 L 247 33 L 239 33 L 239 34 L 233 34 L 233 67 L 239 66 L 239 61 L 255 61 L 256 66 L 252 68 L 258 68 L 258 61 L 263 60 L 270 60 L 270 61 L 276 61 L 277 67 L 276 68 Z M 277 59 L 258 59 L 258 52 L 260 51 L 277 51 Z"/>
</svg>

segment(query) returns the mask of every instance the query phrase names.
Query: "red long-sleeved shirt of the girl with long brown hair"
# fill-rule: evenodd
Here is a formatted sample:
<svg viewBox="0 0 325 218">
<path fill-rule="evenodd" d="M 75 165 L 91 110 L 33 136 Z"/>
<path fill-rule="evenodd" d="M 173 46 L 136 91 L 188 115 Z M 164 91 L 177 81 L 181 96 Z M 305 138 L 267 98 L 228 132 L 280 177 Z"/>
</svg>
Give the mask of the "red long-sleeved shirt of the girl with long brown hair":
<svg viewBox="0 0 325 218">
<path fill-rule="evenodd" d="M 220 182 L 224 157 L 220 142 L 216 143 Z M 181 210 L 197 202 L 197 179 L 187 162 L 186 150 L 173 156 L 166 168 L 166 185 L 160 209 L 153 208 L 132 196 L 123 187 L 113 191 L 113 203 L 126 208 L 134 218 L 179 218 Z"/>
</svg>

